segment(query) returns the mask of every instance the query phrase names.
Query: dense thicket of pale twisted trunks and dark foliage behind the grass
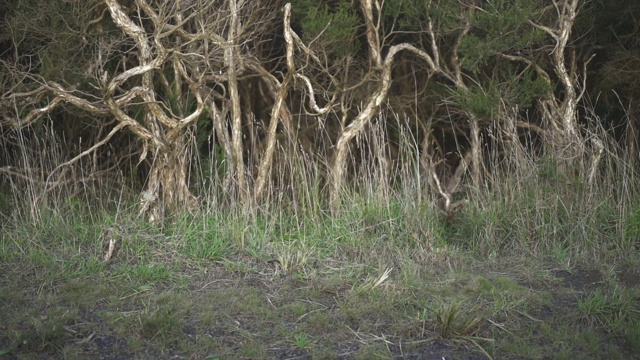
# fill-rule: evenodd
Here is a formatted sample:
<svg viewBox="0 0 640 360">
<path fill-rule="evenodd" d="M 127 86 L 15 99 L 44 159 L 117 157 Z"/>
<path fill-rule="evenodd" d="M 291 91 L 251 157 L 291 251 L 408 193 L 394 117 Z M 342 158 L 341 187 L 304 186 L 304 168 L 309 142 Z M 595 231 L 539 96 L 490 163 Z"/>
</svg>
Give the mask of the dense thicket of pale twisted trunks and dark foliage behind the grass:
<svg viewBox="0 0 640 360">
<path fill-rule="evenodd" d="M 4 216 L 635 211 L 633 1 L 3 6 Z"/>
</svg>

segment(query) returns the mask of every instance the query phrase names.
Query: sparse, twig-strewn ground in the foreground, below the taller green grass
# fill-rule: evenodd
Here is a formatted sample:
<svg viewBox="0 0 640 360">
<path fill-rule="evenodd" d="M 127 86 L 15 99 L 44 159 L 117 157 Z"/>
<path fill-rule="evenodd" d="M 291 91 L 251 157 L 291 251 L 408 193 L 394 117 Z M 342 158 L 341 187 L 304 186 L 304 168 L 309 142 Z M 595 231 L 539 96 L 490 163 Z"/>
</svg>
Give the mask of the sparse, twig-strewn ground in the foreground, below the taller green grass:
<svg viewBox="0 0 640 360">
<path fill-rule="evenodd" d="M 426 271 L 423 284 L 402 283 L 397 269 L 374 286 L 341 271 L 240 265 L 85 264 L 79 276 L 58 274 L 65 279 L 4 263 L 0 358 L 630 359 L 638 349 L 605 326 L 613 315 L 599 317 L 607 308 L 593 298 L 612 281 L 637 289 L 634 268 L 497 272 L 475 264 Z M 591 298 L 594 314 L 584 305 Z"/>
</svg>

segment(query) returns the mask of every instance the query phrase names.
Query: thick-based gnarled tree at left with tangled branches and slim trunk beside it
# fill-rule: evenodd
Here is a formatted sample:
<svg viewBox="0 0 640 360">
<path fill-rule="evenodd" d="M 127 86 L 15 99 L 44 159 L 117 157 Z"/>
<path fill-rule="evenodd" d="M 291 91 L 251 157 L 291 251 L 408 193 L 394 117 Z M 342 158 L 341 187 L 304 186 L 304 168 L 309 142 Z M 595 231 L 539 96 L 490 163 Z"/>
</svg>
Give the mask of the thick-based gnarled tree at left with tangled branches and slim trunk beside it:
<svg viewBox="0 0 640 360">
<path fill-rule="evenodd" d="M 11 92 L 3 94 L 3 122 L 23 127 L 70 104 L 96 115 L 112 117 L 116 125 L 104 138 L 82 151 L 68 165 L 107 143 L 117 132 L 128 130 L 142 143 L 140 161 L 150 170 L 141 196 L 141 213 L 152 221 L 163 218 L 165 209 L 198 207 L 188 186 L 189 156 L 186 133 L 208 109 L 218 134 L 228 146 L 237 190 L 246 201 L 242 124 L 238 73 L 242 71 L 242 44 L 257 36 L 264 25 L 253 18 L 258 3 L 248 1 L 153 1 L 104 0 L 96 2 L 97 14 L 76 29 L 93 58 L 85 62 L 79 88 L 64 76 L 47 78 L 38 68 L 4 62 L 16 79 Z M 53 59 L 48 59 L 54 61 Z M 62 61 L 63 59 L 58 59 Z M 65 82 L 63 82 L 65 81 Z M 230 111 L 227 111 L 230 110 Z M 100 121 L 100 120 L 97 120 Z M 231 136 L 226 132 L 230 129 Z"/>
</svg>

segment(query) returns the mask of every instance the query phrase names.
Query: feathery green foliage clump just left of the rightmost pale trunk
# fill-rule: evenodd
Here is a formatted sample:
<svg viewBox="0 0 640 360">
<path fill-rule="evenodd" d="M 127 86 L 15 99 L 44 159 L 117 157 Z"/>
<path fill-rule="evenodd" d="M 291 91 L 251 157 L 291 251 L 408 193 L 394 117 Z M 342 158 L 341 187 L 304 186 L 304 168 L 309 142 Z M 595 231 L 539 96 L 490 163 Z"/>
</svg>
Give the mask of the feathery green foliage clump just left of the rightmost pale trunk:
<svg viewBox="0 0 640 360">
<path fill-rule="evenodd" d="M 527 56 L 545 33 L 527 21 L 535 14 L 535 1 L 499 0 L 468 7 L 458 15 L 470 32 L 460 43 L 460 65 L 475 74 L 469 89 L 452 90 L 453 99 L 466 112 L 480 118 L 498 117 L 501 108 L 529 108 L 537 97 L 549 94 L 553 85 L 531 68 L 523 68 L 497 57 L 497 54 Z M 491 64 L 491 67 L 488 66 Z"/>
</svg>

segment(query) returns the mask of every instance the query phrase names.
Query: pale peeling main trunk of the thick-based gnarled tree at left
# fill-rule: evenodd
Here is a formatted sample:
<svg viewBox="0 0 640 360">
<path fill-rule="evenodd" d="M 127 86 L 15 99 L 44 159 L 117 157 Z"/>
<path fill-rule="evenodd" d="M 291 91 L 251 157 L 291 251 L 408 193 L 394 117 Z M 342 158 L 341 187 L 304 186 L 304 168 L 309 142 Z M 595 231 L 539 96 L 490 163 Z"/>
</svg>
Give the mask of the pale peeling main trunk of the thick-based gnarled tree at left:
<svg viewBox="0 0 640 360">
<path fill-rule="evenodd" d="M 104 97 L 111 113 L 121 123 L 129 125 L 134 133 L 144 140 L 142 159 L 147 154 L 152 154 L 147 187 L 141 197 L 140 213 L 147 216 L 151 222 L 157 222 L 164 218 L 165 209 L 195 210 L 197 201 L 187 184 L 188 158 L 184 131 L 200 116 L 204 108 L 198 85 L 190 78 L 180 61 L 175 57 L 169 58 L 169 52 L 160 41 L 154 41 L 154 54 L 152 54 L 149 38 L 160 36 L 159 32 L 164 27 L 164 20 L 146 1 L 136 0 L 136 4 L 151 18 L 156 29 L 152 35 L 136 25 L 116 0 L 105 0 L 105 2 L 116 25 L 134 40 L 138 49 L 138 66 L 111 79 L 105 86 Z M 155 55 L 155 58 L 152 55 Z M 155 96 L 153 73 L 156 69 L 169 64 L 173 65 L 176 84 L 186 81 L 197 103 L 195 111 L 184 117 L 167 114 Z M 106 78 L 106 74 L 104 77 Z M 144 126 L 122 110 L 121 107 L 124 104 L 118 104 L 112 98 L 118 88 L 136 77 L 141 77 L 142 80 L 142 86 L 137 89 L 136 94 L 144 100 Z M 177 95 L 180 96 L 181 93 L 178 92 Z"/>
</svg>

